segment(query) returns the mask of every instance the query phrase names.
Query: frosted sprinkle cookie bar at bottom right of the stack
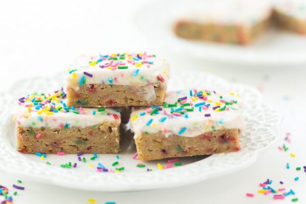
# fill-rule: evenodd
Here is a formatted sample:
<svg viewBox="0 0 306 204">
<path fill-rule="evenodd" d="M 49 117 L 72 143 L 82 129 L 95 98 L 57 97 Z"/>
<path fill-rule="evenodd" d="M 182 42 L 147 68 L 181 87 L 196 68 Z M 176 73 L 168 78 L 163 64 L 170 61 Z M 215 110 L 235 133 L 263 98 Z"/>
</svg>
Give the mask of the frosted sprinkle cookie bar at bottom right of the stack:
<svg viewBox="0 0 306 204">
<path fill-rule="evenodd" d="M 166 93 L 163 106 L 138 108 L 131 129 L 139 159 L 211 155 L 240 150 L 245 129 L 240 96 L 210 90 Z"/>
</svg>

